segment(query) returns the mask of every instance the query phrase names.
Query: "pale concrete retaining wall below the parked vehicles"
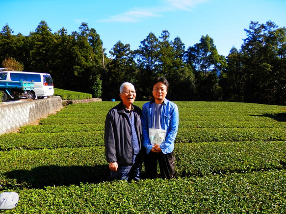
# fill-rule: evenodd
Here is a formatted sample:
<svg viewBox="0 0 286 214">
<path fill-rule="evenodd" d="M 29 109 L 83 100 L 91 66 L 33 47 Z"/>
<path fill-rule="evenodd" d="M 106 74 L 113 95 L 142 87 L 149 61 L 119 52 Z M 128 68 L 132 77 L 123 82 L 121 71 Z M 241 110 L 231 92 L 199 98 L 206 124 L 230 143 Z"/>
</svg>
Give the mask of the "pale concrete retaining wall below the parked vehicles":
<svg viewBox="0 0 286 214">
<path fill-rule="evenodd" d="M 59 96 L 2 103 L 0 104 L 0 134 L 16 131 L 21 126 L 44 118 L 61 108 L 63 104 Z"/>
</svg>

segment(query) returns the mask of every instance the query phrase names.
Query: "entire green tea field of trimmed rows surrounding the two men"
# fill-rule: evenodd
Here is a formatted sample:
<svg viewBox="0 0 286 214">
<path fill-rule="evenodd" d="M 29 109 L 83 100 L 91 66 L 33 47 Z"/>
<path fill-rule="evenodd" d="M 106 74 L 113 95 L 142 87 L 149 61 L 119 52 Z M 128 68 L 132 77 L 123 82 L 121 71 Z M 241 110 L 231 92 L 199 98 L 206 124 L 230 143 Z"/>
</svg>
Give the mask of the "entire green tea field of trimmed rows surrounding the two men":
<svg viewBox="0 0 286 214">
<path fill-rule="evenodd" d="M 20 196 L 0 214 L 286 213 L 286 106 L 175 102 L 176 178 L 128 183 L 107 181 L 104 120 L 117 103 L 71 104 L 0 135 L 0 192 Z"/>
</svg>

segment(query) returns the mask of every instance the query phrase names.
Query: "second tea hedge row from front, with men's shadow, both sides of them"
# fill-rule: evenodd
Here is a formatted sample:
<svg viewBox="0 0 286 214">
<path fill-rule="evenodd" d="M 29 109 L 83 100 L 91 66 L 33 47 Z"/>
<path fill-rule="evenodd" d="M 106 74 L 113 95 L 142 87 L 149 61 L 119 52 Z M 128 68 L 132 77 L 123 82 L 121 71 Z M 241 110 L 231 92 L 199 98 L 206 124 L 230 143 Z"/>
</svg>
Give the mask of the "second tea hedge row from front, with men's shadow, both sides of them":
<svg viewBox="0 0 286 214">
<path fill-rule="evenodd" d="M 286 168 L 286 142 L 176 144 L 179 177 Z M 104 146 L 0 152 L 5 187 L 44 188 L 107 181 Z M 1 188 L 0 188 L 1 190 Z"/>
</svg>

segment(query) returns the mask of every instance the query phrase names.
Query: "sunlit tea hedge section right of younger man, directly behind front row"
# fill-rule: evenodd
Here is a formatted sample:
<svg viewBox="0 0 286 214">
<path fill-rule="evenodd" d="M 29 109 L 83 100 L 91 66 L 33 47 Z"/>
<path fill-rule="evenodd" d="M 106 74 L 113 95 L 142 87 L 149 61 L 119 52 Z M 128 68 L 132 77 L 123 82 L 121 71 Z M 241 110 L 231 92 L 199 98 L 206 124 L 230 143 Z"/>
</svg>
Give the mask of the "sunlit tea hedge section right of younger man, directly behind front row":
<svg viewBox="0 0 286 214">
<path fill-rule="evenodd" d="M 219 142 L 176 144 L 179 176 L 245 173 L 285 169 L 286 142 Z"/>
</svg>

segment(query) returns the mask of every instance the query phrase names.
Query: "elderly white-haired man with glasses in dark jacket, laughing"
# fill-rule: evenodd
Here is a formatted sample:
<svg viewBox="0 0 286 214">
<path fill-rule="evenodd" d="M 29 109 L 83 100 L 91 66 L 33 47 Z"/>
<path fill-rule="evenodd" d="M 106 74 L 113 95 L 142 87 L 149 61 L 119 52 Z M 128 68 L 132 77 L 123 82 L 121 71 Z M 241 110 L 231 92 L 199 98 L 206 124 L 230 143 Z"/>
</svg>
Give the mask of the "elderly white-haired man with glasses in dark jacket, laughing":
<svg viewBox="0 0 286 214">
<path fill-rule="evenodd" d="M 136 180 L 141 172 L 141 109 L 133 102 L 134 86 L 125 82 L 120 86 L 121 102 L 109 110 L 105 119 L 105 157 L 110 180 Z"/>
</svg>

